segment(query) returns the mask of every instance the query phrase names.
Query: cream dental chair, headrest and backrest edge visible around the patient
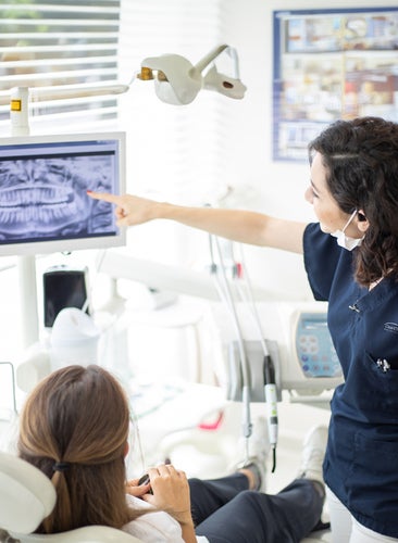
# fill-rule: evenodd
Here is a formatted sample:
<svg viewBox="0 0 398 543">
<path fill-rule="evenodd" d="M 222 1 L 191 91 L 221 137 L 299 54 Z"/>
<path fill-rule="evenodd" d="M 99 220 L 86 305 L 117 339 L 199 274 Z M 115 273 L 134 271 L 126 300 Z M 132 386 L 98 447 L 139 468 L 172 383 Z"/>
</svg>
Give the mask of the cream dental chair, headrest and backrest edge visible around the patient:
<svg viewBox="0 0 398 543">
<path fill-rule="evenodd" d="M 55 489 L 39 469 L 0 452 L 0 542 L 7 543 L 142 543 L 122 530 L 87 526 L 69 532 L 34 532 L 55 505 Z"/>
</svg>

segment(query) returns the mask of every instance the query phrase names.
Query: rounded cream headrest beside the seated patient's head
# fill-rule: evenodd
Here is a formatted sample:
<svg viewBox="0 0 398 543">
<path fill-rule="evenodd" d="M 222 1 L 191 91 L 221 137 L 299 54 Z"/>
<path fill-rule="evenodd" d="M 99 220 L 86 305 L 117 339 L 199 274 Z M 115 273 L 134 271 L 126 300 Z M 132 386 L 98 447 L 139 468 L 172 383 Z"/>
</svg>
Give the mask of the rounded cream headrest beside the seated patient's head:
<svg viewBox="0 0 398 543">
<path fill-rule="evenodd" d="M 52 512 L 55 501 L 55 489 L 45 473 L 0 452 L 0 528 L 32 533 Z"/>
</svg>

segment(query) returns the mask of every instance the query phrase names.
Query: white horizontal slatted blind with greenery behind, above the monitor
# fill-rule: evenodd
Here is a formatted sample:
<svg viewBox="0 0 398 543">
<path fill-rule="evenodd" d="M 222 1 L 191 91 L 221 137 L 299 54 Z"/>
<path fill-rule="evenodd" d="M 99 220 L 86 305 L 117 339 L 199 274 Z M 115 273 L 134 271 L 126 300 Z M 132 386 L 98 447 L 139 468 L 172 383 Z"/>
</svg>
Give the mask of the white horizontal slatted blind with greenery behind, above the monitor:
<svg viewBox="0 0 398 543">
<path fill-rule="evenodd" d="M 0 130 L 9 129 L 10 89 L 91 86 L 117 79 L 120 0 L 0 3 Z M 64 131 L 112 123 L 114 97 L 32 102 L 30 126 Z"/>
</svg>

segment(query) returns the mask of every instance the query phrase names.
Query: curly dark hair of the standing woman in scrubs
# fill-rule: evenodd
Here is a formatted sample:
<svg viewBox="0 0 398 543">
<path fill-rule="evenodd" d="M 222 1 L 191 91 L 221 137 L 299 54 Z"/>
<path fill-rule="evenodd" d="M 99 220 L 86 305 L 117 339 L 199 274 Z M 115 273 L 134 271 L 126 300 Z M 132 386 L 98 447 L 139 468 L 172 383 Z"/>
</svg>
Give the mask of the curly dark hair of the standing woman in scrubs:
<svg viewBox="0 0 398 543">
<path fill-rule="evenodd" d="M 370 116 L 337 121 L 310 142 L 310 161 L 315 152 L 339 207 L 362 210 L 370 225 L 356 251 L 357 281 L 398 279 L 398 124 Z"/>
</svg>

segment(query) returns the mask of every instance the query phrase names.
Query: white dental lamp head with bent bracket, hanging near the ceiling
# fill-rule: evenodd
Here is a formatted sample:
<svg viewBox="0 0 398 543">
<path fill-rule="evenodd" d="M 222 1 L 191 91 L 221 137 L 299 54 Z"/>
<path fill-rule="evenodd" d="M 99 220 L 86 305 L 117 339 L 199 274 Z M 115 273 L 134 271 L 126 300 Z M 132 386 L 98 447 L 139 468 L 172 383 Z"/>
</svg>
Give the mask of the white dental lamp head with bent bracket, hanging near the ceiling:
<svg viewBox="0 0 398 543">
<path fill-rule="evenodd" d="M 216 70 L 214 61 L 223 52 L 232 58 L 234 77 Z M 209 66 L 210 70 L 203 75 L 203 71 Z M 158 72 L 157 77 L 153 77 L 152 72 Z M 192 102 L 201 89 L 213 90 L 228 98 L 244 98 L 246 87 L 240 81 L 238 72 L 236 50 L 223 45 L 211 50 L 196 65 L 177 54 L 150 56 L 141 62 L 141 74 L 137 77 L 141 80 L 154 79 L 157 96 L 163 102 L 185 105 Z"/>
</svg>

